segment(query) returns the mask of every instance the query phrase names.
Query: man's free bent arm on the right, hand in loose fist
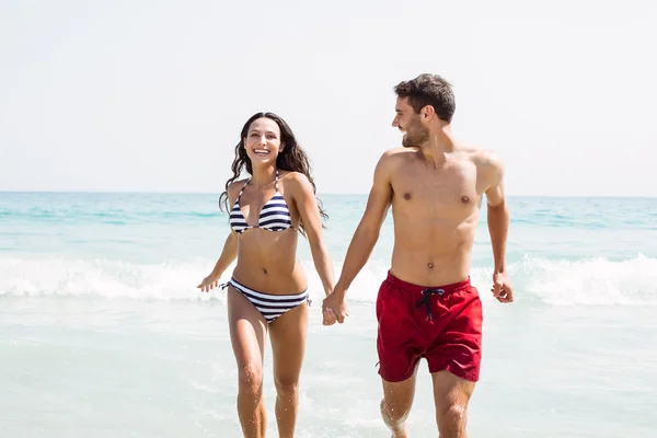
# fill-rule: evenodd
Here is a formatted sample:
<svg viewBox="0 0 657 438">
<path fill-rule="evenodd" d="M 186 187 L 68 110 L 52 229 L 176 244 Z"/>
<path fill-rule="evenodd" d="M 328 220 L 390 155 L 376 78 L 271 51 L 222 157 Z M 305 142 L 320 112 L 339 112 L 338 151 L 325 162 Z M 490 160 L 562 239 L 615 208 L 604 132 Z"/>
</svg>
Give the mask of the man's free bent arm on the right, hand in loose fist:
<svg viewBox="0 0 657 438">
<path fill-rule="evenodd" d="M 487 201 L 488 232 L 493 246 L 493 295 L 500 302 L 514 301 L 512 286 L 507 277 L 506 250 L 509 232 L 509 209 L 504 192 L 504 163 L 493 152 L 485 152 L 482 171 L 488 182 L 485 191 Z"/>
</svg>

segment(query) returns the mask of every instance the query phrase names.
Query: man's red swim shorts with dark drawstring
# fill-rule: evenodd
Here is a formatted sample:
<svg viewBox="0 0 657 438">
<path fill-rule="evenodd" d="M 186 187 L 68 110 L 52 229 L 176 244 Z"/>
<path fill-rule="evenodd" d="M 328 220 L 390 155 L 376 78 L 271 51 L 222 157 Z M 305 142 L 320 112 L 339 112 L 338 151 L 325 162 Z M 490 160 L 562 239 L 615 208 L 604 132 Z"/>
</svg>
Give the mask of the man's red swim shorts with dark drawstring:
<svg viewBox="0 0 657 438">
<path fill-rule="evenodd" d="M 441 370 L 477 381 L 482 358 L 482 302 L 464 281 L 427 287 L 388 273 L 377 297 L 379 374 L 389 382 L 413 376 L 420 358 Z"/>
</svg>

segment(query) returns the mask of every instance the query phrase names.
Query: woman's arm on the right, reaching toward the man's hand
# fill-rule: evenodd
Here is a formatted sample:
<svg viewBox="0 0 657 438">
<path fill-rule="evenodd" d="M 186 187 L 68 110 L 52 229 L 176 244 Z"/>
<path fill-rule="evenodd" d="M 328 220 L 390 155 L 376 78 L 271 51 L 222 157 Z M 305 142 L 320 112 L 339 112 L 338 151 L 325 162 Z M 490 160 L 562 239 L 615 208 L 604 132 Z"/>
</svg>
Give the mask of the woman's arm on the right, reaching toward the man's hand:
<svg viewBox="0 0 657 438">
<path fill-rule="evenodd" d="M 308 235 L 308 242 L 310 243 L 310 251 L 312 253 L 312 260 L 315 265 L 315 269 L 324 286 L 324 292 L 328 296 L 333 292 L 335 285 L 333 278 L 333 263 L 328 251 L 324 245 L 324 239 L 322 237 L 322 217 L 320 216 L 320 208 L 315 199 L 312 185 L 310 181 L 302 173 L 295 173 L 290 175 L 290 182 L 293 186 L 293 197 L 303 229 Z"/>
</svg>

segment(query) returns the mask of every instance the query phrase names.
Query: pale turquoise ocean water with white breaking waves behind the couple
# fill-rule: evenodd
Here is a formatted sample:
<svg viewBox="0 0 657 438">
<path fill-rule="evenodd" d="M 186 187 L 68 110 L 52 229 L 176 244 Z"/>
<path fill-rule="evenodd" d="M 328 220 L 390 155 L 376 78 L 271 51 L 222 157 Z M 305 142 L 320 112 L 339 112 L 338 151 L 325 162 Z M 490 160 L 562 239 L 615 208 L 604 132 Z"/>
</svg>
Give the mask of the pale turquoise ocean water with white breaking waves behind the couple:
<svg viewBox="0 0 657 438">
<path fill-rule="evenodd" d="M 338 274 L 366 197 L 321 198 Z M 473 250 L 484 359 L 470 436 L 657 436 L 657 199 L 509 203 L 515 303 L 488 292 L 485 211 Z M 0 193 L 0 437 L 240 437 L 224 292 L 195 288 L 227 233 L 212 194 Z M 389 217 L 350 316 L 324 327 L 299 240 L 314 304 L 298 437 L 388 436 L 373 302 L 392 243 Z M 437 436 L 434 418 L 423 362 L 412 436 Z"/>
</svg>

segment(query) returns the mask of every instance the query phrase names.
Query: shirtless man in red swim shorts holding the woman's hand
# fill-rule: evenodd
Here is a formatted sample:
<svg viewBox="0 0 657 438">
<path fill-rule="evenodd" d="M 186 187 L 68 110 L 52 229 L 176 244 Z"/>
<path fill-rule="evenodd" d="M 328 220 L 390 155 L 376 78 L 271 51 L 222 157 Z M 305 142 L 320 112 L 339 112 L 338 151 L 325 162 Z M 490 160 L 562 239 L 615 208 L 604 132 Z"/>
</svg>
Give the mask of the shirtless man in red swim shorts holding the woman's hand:
<svg viewBox="0 0 657 438">
<path fill-rule="evenodd" d="M 509 214 L 504 168 L 493 152 L 454 139 L 454 96 L 442 78 L 420 74 L 397 84 L 395 93 L 392 126 L 405 132 L 403 148 L 385 151 L 377 164 L 342 275 L 323 303 L 324 324 L 344 322 L 347 289 L 392 205 L 392 264 L 377 297 L 381 414 L 393 437 L 407 437 L 405 419 L 424 357 L 440 437 L 462 438 L 482 355 L 482 304 L 470 269 L 484 195 L 495 262 L 492 292 L 499 302 L 514 300 L 505 265 Z"/>
</svg>

